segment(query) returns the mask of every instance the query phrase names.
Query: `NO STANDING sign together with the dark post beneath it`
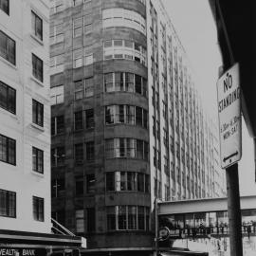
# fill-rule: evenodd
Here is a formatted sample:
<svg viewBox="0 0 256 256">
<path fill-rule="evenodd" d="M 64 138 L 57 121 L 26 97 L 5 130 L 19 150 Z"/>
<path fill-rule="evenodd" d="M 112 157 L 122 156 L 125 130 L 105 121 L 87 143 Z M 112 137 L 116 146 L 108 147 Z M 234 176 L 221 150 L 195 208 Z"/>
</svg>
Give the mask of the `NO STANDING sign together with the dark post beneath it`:
<svg viewBox="0 0 256 256">
<path fill-rule="evenodd" d="M 230 255 L 242 256 L 241 208 L 237 162 L 242 156 L 239 64 L 217 82 L 221 167 L 226 169 Z"/>
</svg>

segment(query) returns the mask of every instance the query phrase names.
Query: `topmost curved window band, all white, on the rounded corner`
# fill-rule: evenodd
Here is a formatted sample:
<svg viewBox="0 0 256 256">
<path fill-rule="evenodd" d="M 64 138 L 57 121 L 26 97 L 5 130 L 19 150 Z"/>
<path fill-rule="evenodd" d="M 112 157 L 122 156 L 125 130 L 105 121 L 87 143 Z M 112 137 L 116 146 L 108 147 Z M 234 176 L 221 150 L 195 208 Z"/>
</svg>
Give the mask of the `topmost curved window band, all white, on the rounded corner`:
<svg viewBox="0 0 256 256">
<path fill-rule="evenodd" d="M 130 27 L 146 35 L 146 20 L 142 15 L 129 9 L 103 9 L 103 28 Z"/>
</svg>

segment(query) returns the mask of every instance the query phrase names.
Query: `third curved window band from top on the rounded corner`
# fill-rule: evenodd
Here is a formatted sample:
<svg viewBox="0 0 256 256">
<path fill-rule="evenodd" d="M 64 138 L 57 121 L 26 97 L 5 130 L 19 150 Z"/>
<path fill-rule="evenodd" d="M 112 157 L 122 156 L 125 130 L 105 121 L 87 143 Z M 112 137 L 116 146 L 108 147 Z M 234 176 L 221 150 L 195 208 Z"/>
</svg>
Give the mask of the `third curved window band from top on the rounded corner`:
<svg viewBox="0 0 256 256">
<path fill-rule="evenodd" d="M 135 92 L 147 97 L 147 80 L 137 74 L 115 72 L 104 74 L 105 92 Z"/>
</svg>

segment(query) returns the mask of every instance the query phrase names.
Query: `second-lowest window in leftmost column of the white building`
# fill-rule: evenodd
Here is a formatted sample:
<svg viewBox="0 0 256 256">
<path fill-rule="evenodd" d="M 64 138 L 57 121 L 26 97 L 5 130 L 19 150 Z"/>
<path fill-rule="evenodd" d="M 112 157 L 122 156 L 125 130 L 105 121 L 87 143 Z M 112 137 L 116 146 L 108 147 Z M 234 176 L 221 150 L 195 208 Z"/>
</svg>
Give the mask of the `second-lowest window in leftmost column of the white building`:
<svg viewBox="0 0 256 256">
<path fill-rule="evenodd" d="M 0 135 L 0 161 L 16 165 L 16 140 Z"/>
</svg>

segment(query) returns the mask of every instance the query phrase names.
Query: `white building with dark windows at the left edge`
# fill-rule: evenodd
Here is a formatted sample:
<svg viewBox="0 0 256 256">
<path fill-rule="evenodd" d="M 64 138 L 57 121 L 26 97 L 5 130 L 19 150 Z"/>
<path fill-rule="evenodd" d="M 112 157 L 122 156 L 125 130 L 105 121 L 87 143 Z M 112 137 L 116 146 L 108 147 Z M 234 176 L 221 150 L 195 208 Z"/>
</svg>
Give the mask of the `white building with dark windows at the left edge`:
<svg viewBox="0 0 256 256">
<path fill-rule="evenodd" d="M 0 229 L 51 230 L 48 42 L 48 1 L 0 1 Z"/>
</svg>

